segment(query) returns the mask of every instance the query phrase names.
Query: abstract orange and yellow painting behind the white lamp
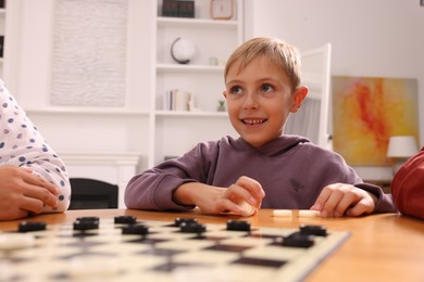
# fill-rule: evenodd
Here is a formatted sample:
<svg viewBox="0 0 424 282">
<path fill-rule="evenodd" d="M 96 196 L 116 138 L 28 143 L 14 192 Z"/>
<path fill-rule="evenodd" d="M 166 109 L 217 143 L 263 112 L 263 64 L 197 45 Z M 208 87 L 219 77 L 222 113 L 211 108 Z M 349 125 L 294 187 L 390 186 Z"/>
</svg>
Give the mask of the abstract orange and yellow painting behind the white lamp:
<svg viewBox="0 0 424 282">
<path fill-rule="evenodd" d="M 388 139 L 419 141 L 416 79 L 334 76 L 333 148 L 351 166 L 388 166 Z"/>
</svg>

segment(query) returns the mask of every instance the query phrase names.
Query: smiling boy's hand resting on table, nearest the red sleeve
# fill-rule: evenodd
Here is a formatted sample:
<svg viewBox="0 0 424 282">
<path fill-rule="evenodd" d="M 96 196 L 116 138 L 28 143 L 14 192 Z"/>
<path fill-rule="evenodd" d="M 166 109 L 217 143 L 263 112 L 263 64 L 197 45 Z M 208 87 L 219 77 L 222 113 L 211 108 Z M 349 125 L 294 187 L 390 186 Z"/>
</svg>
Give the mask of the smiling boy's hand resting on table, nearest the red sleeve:
<svg viewBox="0 0 424 282">
<path fill-rule="evenodd" d="M 361 216 L 373 213 L 377 198 L 351 184 L 334 183 L 325 187 L 311 207 L 322 217 Z"/>
</svg>

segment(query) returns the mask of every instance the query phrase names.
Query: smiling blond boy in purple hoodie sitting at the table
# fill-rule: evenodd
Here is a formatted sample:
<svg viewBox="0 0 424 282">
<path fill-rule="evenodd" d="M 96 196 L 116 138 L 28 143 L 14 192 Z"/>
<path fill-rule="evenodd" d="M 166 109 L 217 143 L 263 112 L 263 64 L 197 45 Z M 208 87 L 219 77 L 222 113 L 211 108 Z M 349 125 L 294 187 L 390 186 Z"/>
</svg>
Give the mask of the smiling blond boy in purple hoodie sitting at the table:
<svg viewBox="0 0 424 282">
<path fill-rule="evenodd" d="M 308 93 L 296 48 L 251 39 L 230 55 L 224 77 L 228 116 L 240 138 L 200 143 L 135 176 L 125 192 L 128 208 L 198 206 L 208 214 L 244 215 L 247 202 L 254 210 L 311 208 L 323 217 L 395 211 L 391 197 L 363 183 L 338 154 L 283 134 Z"/>
</svg>

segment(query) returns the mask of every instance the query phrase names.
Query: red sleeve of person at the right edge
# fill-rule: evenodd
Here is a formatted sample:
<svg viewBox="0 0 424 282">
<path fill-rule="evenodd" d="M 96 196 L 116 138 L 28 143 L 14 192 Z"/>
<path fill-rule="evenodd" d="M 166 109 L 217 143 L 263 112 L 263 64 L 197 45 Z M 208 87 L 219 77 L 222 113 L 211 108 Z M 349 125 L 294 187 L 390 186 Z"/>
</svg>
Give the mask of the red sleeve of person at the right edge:
<svg viewBox="0 0 424 282">
<path fill-rule="evenodd" d="M 424 219 L 424 146 L 396 172 L 390 189 L 400 213 Z"/>
</svg>

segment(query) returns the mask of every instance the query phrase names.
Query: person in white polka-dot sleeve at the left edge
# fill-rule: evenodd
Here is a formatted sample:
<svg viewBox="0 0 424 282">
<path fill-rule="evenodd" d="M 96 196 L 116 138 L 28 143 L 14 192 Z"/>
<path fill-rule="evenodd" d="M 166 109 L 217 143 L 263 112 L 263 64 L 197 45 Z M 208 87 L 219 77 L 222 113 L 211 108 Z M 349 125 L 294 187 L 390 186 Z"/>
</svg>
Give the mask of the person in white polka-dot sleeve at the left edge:
<svg viewBox="0 0 424 282">
<path fill-rule="evenodd" d="M 70 195 L 62 159 L 0 80 L 0 221 L 64 211 Z"/>
</svg>

